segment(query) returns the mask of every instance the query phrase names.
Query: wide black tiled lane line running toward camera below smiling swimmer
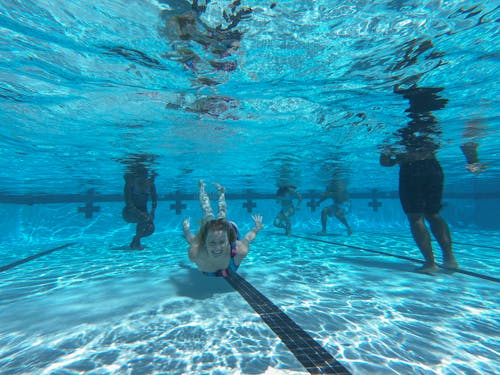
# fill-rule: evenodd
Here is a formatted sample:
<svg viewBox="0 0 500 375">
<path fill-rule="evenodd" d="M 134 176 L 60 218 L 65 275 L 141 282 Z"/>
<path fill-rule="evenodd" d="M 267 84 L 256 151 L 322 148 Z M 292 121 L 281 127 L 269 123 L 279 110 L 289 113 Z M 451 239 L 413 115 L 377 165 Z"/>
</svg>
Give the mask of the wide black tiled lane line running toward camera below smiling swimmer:
<svg viewBox="0 0 500 375">
<path fill-rule="evenodd" d="M 310 374 L 350 375 L 350 372 L 306 331 L 243 277 L 232 274 L 226 277 L 226 281 L 260 315 Z"/>
</svg>

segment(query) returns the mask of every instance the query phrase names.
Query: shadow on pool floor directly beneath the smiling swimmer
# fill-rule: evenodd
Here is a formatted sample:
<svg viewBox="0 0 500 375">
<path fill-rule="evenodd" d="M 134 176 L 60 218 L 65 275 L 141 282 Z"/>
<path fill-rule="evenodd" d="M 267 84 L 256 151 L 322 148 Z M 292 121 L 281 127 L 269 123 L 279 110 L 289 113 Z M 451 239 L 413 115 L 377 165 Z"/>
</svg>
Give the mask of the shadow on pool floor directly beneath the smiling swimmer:
<svg viewBox="0 0 500 375">
<path fill-rule="evenodd" d="M 184 268 L 186 273 L 169 279 L 178 296 L 202 300 L 211 298 L 215 294 L 235 292 L 223 277 L 205 276 L 185 264 L 179 264 L 179 267 Z"/>
</svg>

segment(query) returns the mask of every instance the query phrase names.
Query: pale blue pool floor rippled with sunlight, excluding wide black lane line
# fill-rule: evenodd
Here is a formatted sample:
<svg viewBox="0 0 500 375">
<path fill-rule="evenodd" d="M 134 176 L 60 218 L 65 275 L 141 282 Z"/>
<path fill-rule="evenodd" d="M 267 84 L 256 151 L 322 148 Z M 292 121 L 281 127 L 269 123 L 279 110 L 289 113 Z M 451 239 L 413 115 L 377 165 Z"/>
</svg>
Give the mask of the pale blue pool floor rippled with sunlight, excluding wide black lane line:
<svg viewBox="0 0 500 375">
<path fill-rule="evenodd" d="M 288 237 L 269 225 L 239 274 L 350 373 L 498 372 L 498 279 L 414 273 L 421 257 L 400 230 L 313 229 Z M 143 251 L 126 248 L 127 231 L 2 272 L 2 374 L 307 373 L 223 278 L 190 264 L 179 229 L 145 239 Z M 456 233 L 463 268 L 497 275 L 498 237 Z"/>
</svg>

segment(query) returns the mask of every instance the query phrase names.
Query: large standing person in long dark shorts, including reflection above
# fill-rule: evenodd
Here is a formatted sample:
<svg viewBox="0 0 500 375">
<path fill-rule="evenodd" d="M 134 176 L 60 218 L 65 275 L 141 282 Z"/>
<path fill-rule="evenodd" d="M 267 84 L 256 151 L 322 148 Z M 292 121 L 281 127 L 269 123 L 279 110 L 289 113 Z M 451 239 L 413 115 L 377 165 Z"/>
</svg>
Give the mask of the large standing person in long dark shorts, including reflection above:
<svg viewBox="0 0 500 375">
<path fill-rule="evenodd" d="M 424 257 L 420 273 L 438 271 L 431 244 L 431 237 L 424 219 L 429 223 L 434 237 L 443 253 L 443 267 L 458 268 L 452 251 L 452 240 L 448 224 L 440 215 L 444 174 L 436 157 L 439 149 L 436 136 L 441 134 L 432 110 L 441 109 L 447 99 L 439 97 L 442 88 L 416 87 L 395 92 L 410 101 L 408 126 L 396 135 L 401 141 L 385 146 L 380 154 L 384 167 L 399 165 L 399 198 L 410 223 L 411 233 Z"/>
</svg>

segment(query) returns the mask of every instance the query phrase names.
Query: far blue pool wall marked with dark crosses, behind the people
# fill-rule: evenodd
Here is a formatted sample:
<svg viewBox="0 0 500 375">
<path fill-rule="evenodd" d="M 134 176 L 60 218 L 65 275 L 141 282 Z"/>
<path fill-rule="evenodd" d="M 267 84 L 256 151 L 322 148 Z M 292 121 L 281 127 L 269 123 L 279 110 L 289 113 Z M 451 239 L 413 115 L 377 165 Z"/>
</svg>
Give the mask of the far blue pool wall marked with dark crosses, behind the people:
<svg viewBox="0 0 500 375">
<path fill-rule="evenodd" d="M 394 193 L 392 194 L 394 195 Z M 41 203 L 36 199 L 17 197 L 12 201 L 21 203 L 6 203 L 6 198 L 0 203 L 0 225 L 2 225 L 2 242 L 20 239 L 28 243 L 46 242 L 54 240 L 79 239 L 86 236 L 109 236 L 109 231 L 117 236 L 128 238 L 132 235 L 134 225 L 122 219 L 123 202 L 121 197 L 111 196 L 92 201 L 85 201 L 85 196 L 72 196 L 69 202 L 48 203 L 61 200 L 61 197 L 45 196 Z M 174 197 L 160 197 L 156 212 L 156 232 L 181 229 L 182 220 L 190 217 L 192 229 L 196 230 L 199 224 L 200 208 L 196 196 L 186 196 L 175 200 Z M 239 199 L 238 199 L 239 198 Z M 30 202 L 30 204 L 22 203 Z M 216 198 L 212 198 L 212 205 L 216 209 Z M 311 209 L 311 199 L 304 198 L 302 207 L 293 217 L 293 231 L 314 233 L 321 228 L 321 209 L 330 203 L 323 202 L 320 207 Z M 276 201 L 271 198 L 252 197 L 245 199 L 228 197 L 229 218 L 240 226 L 242 231 L 252 225 L 251 215 L 260 213 L 264 216 L 267 230 L 282 231 L 272 225 L 274 217 L 279 212 Z M 453 230 L 459 228 L 478 230 L 500 230 L 500 199 L 493 195 L 473 198 L 448 198 L 443 201 L 442 215 Z M 406 217 L 401 209 L 397 196 L 393 197 L 361 197 L 353 198 L 351 211 L 347 220 L 354 231 L 372 230 L 383 231 L 384 228 L 401 228 L 408 232 Z M 345 228 L 335 218 L 328 219 L 328 231 L 345 234 Z"/>
</svg>

